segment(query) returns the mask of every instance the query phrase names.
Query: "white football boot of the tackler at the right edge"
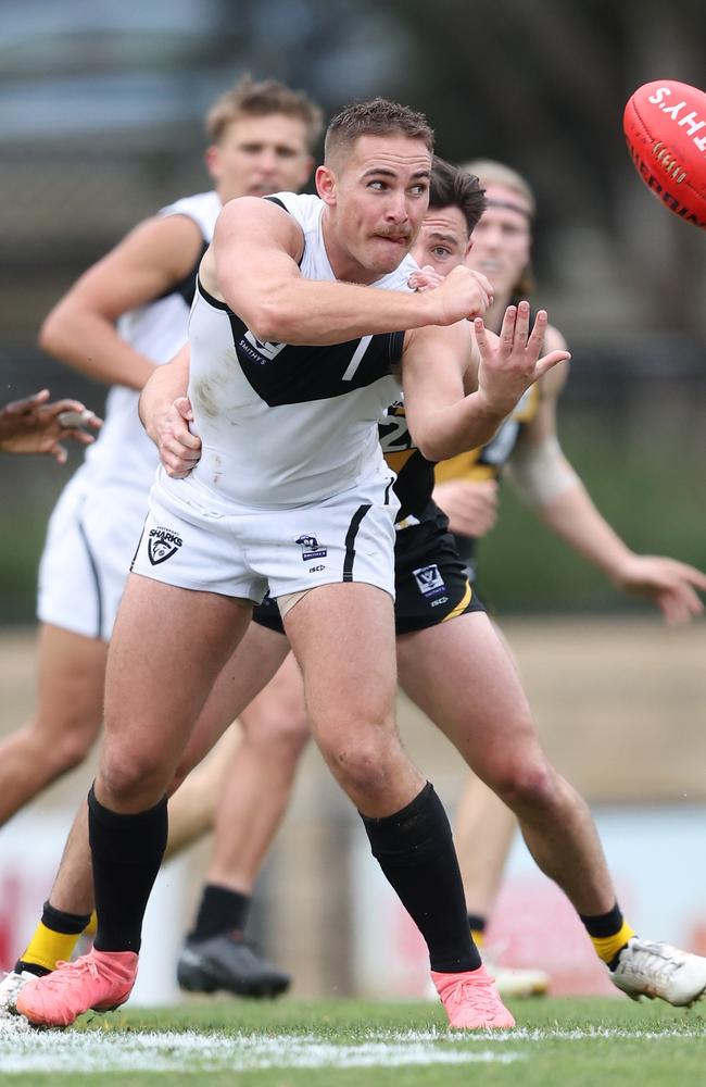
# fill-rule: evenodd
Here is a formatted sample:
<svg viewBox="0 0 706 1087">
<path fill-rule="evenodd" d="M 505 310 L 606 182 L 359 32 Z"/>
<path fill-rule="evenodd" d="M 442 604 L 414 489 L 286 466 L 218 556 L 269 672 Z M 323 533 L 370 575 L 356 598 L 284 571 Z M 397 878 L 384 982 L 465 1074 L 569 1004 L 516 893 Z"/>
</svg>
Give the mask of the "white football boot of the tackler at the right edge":
<svg viewBox="0 0 706 1087">
<path fill-rule="evenodd" d="M 628 940 L 608 973 L 613 984 L 633 1000 L 659 997 L 676 1008 L 688 1008 L 706 991 L 706 959 L 636 936 Z"/>
</svg>

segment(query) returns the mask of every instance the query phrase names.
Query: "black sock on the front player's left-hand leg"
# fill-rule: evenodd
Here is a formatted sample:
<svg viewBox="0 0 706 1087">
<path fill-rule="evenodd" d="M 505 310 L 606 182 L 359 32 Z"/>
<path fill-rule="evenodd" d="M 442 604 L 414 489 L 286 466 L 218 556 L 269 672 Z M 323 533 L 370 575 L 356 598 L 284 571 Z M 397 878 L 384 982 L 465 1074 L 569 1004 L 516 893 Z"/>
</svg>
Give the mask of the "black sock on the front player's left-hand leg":
<svg viewBox="0 0 706 1087">
<path fill-rule="evenodd" d="M 88 794 L 97 951 L 139 951 L 142 919 L 166 848 L 166 797 L 136 815 L 111 811 Z"/>
</svg>

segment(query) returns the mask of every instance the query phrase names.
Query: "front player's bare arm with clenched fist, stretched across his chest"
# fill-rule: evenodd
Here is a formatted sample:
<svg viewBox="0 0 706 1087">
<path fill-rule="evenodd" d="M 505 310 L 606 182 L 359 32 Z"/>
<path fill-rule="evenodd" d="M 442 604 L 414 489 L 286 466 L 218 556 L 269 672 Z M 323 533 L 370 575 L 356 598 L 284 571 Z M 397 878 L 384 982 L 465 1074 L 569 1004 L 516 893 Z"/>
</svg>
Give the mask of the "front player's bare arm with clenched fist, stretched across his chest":
<svg viewBox="0 0 706 1087">
<path fill-rule="evenodd" d="M 312 346 L 450 325 L 483 313 L 492 293 L 484 276 L 465 267 L 423 293 L 305 279 L 298 266 L 303 243 L 301 229 L 277 204 L 253 197 L 232 200 L 202 261 L 203 285 L 259 338 Z"/>
</svg>

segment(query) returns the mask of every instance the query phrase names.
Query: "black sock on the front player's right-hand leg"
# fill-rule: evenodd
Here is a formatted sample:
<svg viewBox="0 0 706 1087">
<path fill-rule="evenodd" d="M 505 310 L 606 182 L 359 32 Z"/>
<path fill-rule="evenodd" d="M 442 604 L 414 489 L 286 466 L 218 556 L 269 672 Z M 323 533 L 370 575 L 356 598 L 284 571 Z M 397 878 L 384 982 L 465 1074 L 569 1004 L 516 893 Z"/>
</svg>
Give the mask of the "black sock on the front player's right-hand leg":
<svg viewBox="0 0 706 1087">
<path fill-rule="evenodd" d="M 427 942 L 431 969 L 477 970 L 451 826 L 431 783 L 394 815 L 361 815 L 373 855 Z"/>
</svg>

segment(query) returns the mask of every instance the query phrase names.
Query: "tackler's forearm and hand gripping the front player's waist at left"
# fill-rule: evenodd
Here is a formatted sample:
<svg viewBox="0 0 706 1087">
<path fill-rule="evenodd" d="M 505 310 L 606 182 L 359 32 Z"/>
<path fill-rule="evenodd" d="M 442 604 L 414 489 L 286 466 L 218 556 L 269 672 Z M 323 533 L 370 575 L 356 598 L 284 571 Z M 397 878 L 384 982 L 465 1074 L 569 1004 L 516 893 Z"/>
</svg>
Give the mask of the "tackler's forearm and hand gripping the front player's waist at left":
<svg viewBox="0 0 706 1087">
<path fill-rule="evenodd" d="M 189 345 L 165 366 L 157 366 L 140 393 L 142 426 L 160 451 L 167 475 L 182 479 L 201 457 L 201 438 L 191 434 L 193 421 L 189 387 Z"/>
</svg>

